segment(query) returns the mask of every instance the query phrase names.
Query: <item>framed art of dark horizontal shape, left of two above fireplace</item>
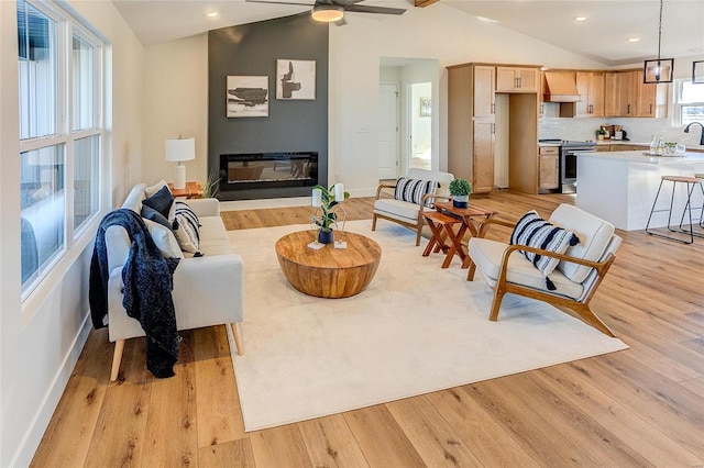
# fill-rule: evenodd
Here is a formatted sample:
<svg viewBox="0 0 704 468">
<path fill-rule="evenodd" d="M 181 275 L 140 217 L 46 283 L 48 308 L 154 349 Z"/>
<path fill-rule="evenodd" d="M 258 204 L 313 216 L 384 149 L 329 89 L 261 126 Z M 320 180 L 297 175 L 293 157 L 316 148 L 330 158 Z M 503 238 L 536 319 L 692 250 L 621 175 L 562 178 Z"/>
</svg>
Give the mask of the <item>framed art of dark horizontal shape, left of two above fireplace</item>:
<svg viewBox="0 0 704 468">
<path fill-rule="evenodd" d="M 268 77 L 229 76 L 227 116 L 268 116 Z"/>
</svg>

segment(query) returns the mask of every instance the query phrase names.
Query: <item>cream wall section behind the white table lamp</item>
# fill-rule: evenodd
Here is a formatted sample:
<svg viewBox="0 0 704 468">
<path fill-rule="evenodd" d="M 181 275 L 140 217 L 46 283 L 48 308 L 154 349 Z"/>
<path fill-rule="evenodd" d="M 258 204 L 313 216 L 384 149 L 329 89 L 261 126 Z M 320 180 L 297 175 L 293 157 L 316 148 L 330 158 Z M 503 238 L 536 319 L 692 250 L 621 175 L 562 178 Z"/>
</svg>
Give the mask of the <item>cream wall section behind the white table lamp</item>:
<svg viewBox="0 0 704 468">
<path fill-rule="evenodd" d="M 196 159 L 185 161 L 188 180 L 208 172 L 208 34 L 153 45 L 145 51 L 142 103 L 142 175 L 154 183 L 174 180 L 164 159 L 166 137 L 195 136 Z M 224 99 L 224 98 L 223 98 Z"/>
</svg>

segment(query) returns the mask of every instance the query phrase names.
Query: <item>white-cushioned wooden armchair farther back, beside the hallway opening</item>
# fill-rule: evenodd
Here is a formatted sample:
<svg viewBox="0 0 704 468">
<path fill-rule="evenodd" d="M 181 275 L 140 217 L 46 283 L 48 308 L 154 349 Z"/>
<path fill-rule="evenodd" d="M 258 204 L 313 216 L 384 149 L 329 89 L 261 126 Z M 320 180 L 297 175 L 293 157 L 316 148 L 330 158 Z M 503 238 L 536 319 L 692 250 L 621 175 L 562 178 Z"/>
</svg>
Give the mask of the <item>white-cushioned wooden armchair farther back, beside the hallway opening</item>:
<svg viewBox="0 0 704 468">
<path fill-rule="evenodd" d="M 437 170 L 426 169 L 408 169 L 407 179 L 415 180 L 433 180 L 440 185 L 447 185 L 454 176 L 450 172 L 441 172 Z M 420 234 L 422 232 L 424 218 L 422 211 L 426 201 L 431 198 L 449 199 L 447 194 L 422 196 L 420 203 L 399 200 L 394 198 L 396 183 L 382 183 L 376 189 L 376 199 L 374 200 L 374 216 L 372 218 L 372 231 L 376 230 L 376 220 L 393 221 L 416 231 L 416 245 L 420 245 Z"/>
</svg>

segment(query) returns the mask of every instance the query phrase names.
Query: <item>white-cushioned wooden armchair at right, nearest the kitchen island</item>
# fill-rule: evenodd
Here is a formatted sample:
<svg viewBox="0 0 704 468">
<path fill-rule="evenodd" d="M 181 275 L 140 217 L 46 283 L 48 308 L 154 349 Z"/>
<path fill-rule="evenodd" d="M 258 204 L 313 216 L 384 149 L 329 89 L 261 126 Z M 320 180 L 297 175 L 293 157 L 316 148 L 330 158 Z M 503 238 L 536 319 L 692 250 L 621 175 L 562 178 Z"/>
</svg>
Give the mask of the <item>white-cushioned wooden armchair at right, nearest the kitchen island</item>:
<svg viewBox="0 0 704 468">
<path fill-rule="evenodd" d="M 558 207 L 550 219 L 551 224 L 571 231 L 580 243 L 558 254 L 526 245 L 508 245 L 487 238 L 472 237 L 469 242 L 470 270 L 468 280 L 474 279 L 479 269 L 486 282 L 494 288 L 494 301 L 490 320 L 496 321 L 502 299 L 507 292 L 548 302 L 559 309 L 571 309 L 584 322 L 608 336 L 613 332 L 594 314 L 590 301 L 596 288 L 615 259 L 622 238 L 614 233 L 614 226 L 600 218 L 570 204 Z M 491 219 L 482 223 L 514 227 L 514 224 Z M 486 226 L 488 227 L 488 226 Z M 559 265 L 549 275 L 551 287 L 544 275 L 520 252 L 531 252 L 557 258 Z"/>
</svg>

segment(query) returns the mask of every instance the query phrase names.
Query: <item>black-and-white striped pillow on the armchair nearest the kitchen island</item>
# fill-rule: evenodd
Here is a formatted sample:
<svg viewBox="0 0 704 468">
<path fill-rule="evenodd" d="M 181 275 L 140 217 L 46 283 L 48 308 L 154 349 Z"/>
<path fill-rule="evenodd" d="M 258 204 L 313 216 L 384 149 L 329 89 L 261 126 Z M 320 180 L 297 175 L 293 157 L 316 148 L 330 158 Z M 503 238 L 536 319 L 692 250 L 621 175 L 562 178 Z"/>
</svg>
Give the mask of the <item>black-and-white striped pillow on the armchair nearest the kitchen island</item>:
<svg viewBox="0 0 704 468">
<path fill-rule="evenodd" d="M 527 245 L 529 247 L 541 248 L 543 250 L 564 254 L 570 246 L 580 243 L 580 238 L 572 232 L 565 231 L 550 224 L 538 215 L 535 210 L 524 214 L 510 235 L 513 245 Z M 549 290 L 554 290 L 556 286 L 550 280 L 550 275 L 560 260 L 552 257 L 534 254 L 532 252 L 521 252 L 536 268 L 546 277 L 546 286 Z"/>
</svg>

